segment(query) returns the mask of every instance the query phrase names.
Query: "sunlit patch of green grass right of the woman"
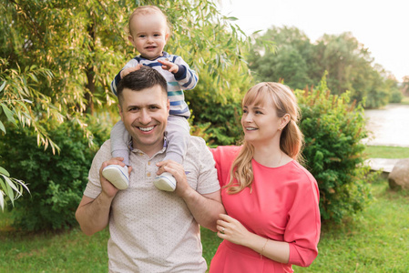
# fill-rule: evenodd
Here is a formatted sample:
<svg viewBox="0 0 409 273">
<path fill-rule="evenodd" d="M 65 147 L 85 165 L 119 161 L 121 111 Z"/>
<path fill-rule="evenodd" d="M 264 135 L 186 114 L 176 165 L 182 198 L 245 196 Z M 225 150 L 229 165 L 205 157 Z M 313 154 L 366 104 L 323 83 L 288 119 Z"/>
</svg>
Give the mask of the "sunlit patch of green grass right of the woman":
<svg viewBox="0 0 409 273">
<path fill-rule="evenodd" d="M 324 226 L 318 258 L 296 272 L 409 272 L 409 193 L 373 184 L 373 203 L 341 227 Z"/>
</svg>

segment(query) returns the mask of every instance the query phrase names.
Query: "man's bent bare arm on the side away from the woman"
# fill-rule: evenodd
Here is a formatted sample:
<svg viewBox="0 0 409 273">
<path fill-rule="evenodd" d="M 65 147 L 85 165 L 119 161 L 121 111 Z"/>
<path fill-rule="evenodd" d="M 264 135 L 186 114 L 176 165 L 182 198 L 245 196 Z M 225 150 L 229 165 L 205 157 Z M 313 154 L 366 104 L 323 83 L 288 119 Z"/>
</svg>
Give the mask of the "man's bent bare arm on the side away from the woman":
<svg viewBox="0 0 409 273">
<path fill-rule="evenodd" d="M 122 157 L 111 158 L 102 164 L 99 169 L 101 193 L 95 199 L 83 196 L 79 203 L 76 218 L 81 230 L 89 236 L 107 227 L 112 200 L 118 193 L 118 188 L 102 176 L 102 170 L 108 165 L 125 166 L 121 159 L 123 160 Z"/>
</svg>

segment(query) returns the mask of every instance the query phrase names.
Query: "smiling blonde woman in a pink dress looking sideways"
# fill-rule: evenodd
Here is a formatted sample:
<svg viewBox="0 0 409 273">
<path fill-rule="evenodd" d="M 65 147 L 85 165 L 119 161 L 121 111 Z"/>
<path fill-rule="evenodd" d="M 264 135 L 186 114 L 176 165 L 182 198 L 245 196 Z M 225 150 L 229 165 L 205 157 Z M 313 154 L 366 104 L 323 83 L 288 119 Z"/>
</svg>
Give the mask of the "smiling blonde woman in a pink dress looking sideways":
<svg viewBox="0 0 409 273">
<path fill-rule="evenodd" d="M 293 272 L 318 254 L 319 191 L 301 159 L 299 108 L 287 86 L 261 83 L 243 98 L 241 147 L 212 149 L 221 197 L 223 239 L 210 273 Z"/>
</svg>

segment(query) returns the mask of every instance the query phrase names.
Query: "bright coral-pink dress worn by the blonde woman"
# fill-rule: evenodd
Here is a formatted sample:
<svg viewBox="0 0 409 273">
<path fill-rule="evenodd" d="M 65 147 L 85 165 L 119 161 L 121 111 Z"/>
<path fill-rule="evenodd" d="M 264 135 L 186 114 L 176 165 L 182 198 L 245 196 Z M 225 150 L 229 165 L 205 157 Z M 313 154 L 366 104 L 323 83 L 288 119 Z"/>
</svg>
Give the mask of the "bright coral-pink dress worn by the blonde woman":
<svg viewBox="0 0 409 273">
<path fill-rule="evenodd" d="M 241 147 L 211 149 L 220 187 L 230 181 L 230 166 Z M 293 272 L 291 265 L 308 267 L 318 254 L 320 239 L 319 190 L 314 177 L 296 161 L 264 167 L 252 160 L 252 190 L 221 198 L 226 212 L 252 233 L 290 244 L 288 264 L 261 258 L 251 248 L 223 240 L 210 264 L 210 273 Z"/>
</svg>

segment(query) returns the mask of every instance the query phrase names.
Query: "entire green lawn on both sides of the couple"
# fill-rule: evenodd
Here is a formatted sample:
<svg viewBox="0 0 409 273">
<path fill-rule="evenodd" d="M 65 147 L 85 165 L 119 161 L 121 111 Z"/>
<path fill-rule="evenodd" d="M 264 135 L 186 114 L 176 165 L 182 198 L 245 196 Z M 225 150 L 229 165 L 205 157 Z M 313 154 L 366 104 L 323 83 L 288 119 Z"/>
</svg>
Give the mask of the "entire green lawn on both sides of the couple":
<svg viewBox="0 0 409 273">
<path fill-rule="evenodd" d="M 409 193 L 372 185 L 373 202 L 341 226 L 323 225 L 318 258 L 296 272 L 409 272 Z M 0 213 L 0 272 L 107 272 L 107 230 L 87 237 L 78 228 L 60 233 L 10 230 Z M 220 239 L 202 229 L 210 262 Z"/>
</svg>

